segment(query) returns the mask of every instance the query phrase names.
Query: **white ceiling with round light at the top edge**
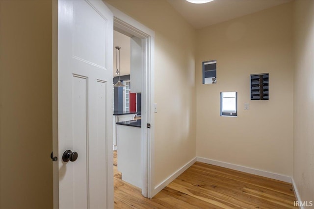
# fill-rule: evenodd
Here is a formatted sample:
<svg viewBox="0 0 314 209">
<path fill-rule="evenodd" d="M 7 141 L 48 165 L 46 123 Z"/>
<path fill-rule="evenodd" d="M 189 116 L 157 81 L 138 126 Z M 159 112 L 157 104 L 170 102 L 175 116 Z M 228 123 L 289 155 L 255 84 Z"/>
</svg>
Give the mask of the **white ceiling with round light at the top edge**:
<svg viewBox="0 0 314 209">
<path fill-rule="evenodd" d="M 195 4 L 186 0 L 168 0 L 190 24 L 202 28 L 286 3 L 290 0 L 214 0 Z"/>
</svg>

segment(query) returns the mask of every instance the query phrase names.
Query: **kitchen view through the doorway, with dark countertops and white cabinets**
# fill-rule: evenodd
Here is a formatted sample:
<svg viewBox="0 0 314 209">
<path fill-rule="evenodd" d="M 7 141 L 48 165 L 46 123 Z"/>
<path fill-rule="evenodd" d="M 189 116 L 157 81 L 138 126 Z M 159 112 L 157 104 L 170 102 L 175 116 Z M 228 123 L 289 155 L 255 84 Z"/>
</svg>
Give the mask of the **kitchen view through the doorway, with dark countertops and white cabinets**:
<svg viewBox="0 0 314 209">
<path fill-rule="evenodd" d="M 121 183 L 142 189 L 141 93 L 142 40 L 113 33 L 113 175 Z M 119 82 L 120 81 L 120 82 Z"/>
</svg>

